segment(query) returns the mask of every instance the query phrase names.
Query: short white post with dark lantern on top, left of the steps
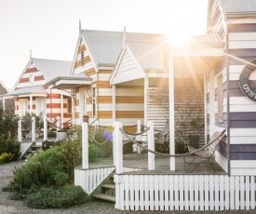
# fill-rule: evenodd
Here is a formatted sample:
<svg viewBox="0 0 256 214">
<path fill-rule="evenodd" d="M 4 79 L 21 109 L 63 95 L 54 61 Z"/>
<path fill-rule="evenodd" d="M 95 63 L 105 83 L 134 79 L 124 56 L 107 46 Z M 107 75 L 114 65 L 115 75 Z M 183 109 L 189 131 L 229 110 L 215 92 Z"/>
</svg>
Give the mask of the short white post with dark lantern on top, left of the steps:
<svg viewBox="0 0 256 214">
<path fill-rule="evenodd" d="M 82 168 L 88 168 L 88 123 L 82 123 Z"/>
</svg>

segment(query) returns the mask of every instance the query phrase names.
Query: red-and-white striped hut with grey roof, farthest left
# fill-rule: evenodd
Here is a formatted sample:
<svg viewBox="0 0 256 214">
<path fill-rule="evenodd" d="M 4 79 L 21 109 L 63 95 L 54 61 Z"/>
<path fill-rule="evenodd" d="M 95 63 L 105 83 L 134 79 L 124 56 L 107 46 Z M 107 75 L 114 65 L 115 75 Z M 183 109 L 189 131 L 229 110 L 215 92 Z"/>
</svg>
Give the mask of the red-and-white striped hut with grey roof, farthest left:
<svg viewBox="0 0 256 214">
<path fill-rule="evenodd" d="M 15 100 L 15 114 L 43 114 L 52 122 L 60 116 L 61 123 L 72 118 L 72 96 L 69 91 L 50 89 L 46 83 L 58 75 L 68 75 L 72 62 L 31 58 L 12 91 L 5 98 Z M 68 126 L 68 124 L 66 124 Z"/>
</svg>

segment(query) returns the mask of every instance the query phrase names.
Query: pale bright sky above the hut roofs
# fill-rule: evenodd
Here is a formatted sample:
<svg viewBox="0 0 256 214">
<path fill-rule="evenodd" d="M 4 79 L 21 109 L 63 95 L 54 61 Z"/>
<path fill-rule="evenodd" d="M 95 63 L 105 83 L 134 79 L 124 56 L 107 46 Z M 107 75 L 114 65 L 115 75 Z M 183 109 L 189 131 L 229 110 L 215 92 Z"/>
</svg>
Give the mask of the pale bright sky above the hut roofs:
<svg viewBox="0 0 256 214">
<path fill-rule="evenodd" d="M 203 34 L 207 0 L 0 0 L 0 81 L 12 88 L 33 58 L 73 60 L 82 29 Z"/>
</svg>

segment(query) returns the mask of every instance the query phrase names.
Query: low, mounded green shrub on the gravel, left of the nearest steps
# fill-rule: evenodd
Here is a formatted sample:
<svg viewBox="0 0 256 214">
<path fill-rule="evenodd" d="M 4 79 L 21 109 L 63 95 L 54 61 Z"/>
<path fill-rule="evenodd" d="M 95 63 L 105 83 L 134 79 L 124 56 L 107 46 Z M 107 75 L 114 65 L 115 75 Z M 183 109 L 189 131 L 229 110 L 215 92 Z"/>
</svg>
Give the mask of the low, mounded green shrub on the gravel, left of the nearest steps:
<svg viewBox="0 0 256 214">
<path fill-rule="evenodd" d="M 28 195 L 26 204 L 33 208 L 68 208 L 85 203 L 87 196 L 80 186 L 42 188 L 37 193 Z"/>
</svg>

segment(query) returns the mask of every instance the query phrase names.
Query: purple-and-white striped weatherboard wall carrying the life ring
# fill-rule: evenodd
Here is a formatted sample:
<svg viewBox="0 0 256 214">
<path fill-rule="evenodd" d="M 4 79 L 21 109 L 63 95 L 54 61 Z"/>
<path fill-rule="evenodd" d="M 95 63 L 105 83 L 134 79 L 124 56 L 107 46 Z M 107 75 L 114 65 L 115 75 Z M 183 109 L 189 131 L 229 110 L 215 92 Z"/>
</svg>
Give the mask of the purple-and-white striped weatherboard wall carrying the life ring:
<svg viewBox="0 0 256 214">
<path fill-rule="evenodd" d="M 242 4 L 240 8 L 243 7 L 245 11 L 256 11 L 255 1 L 232 2 L 234 5 L 231 4 L 230 9 L 239 7 L 237 4 Z M 249 5 L 250 3 L 253 3 L 253 5 Z M 256 102 L 246 98 L 238 85 L 239 75 L 244 66 L 247 62 L 256 58 L 256 38 L 254 36 L 256 24 L 228 24 L 227 31 L 230 35 L 228 43 L 232 44 L 228 49 L 231 80 L 229 81 L 229 94 L 226 94 L 230 99 L 230 160 L 256 160 Z M 254 74 L 250 76 L 249 87 L 254 91 L 256 90 Z M 223 84 L 223 88 L 227 88 L 227 83 Z M 226 126 L 226 118 L 227 114 L 224 114 L 223 126 Z M 226 144 L 220 144 L 218 151 L 228 158 Z"/>
</svg>

